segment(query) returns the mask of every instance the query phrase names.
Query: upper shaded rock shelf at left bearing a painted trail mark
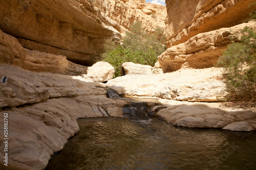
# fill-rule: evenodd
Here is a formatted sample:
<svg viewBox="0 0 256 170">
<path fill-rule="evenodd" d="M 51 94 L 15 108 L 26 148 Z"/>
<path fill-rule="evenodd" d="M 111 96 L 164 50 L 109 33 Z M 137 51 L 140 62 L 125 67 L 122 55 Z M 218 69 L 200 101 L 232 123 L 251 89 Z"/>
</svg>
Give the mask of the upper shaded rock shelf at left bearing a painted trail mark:
<svg viewBox="0 0 256 170">
<path fill-rule="evenodd" d="M 14 107 L 49 98 L 77 95 L 101 95 L 106 91 L 103 83 L 90 83 L 81 77 L 36 73 L 11 65 L 0 64 L 0 77 L 8 77 L 0 83 L 0 108 Z"/>
</svg>

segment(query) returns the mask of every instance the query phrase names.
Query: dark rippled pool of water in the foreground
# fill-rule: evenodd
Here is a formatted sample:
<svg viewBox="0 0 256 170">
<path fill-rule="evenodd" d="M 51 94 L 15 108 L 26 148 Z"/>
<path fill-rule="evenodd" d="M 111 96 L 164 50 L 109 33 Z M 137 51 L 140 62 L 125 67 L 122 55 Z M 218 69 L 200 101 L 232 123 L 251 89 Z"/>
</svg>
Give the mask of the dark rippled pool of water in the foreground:
<svg viewBox="0 0 256 170">
<path fill-rule="evenodd" d="M 46 169 L 256 169 L 256 133 L 176 128 L 157 119 L 78 120 Z"/>
</svg>

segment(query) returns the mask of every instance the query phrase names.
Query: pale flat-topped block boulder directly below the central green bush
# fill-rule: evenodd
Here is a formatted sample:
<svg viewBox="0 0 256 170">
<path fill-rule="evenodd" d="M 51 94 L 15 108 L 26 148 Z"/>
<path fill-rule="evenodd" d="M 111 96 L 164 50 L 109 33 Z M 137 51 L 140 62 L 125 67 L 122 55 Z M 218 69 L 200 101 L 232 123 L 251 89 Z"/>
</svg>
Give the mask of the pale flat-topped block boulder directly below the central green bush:
<svg viewBox="0 0 256 170">
<path fill-rule="evenodd" d="M 133 62 L 122 63 L 125 75 L 152 75 L 153 67 L 150 65 L 135 64 Z"/>
</svg>

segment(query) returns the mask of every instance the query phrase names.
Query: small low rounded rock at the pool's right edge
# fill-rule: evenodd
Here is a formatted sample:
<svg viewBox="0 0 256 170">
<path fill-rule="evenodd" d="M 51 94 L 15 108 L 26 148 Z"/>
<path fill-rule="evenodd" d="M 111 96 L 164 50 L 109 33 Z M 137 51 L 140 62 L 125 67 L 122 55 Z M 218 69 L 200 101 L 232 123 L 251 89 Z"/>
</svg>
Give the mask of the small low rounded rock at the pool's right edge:
<svg viewBox="0 0 256 170">
<path fill-rule="evenodd" d="M 230 131 L 253 131 L 254 128 L 251 126 L 248 122 L 242 121 L 242 122 L 233 122 L 224 128 L 224 130 L 230 130 Z"/>
</svg>

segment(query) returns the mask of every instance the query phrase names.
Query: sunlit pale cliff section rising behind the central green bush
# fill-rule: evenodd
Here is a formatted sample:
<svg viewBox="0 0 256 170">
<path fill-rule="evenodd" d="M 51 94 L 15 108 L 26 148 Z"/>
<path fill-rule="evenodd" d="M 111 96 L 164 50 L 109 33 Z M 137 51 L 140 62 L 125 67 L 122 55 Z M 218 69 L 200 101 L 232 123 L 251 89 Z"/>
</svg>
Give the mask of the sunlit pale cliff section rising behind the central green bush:
<svg viewBox="0 0 256 170">
<path fill-rule="evenodd" d="M 148 4 L 145 0 L 96 0 L 94 9 L 122 35 L 134 21 L 140 21 L 142 28 L 148 33 L 154 32 L 157 27 L 165 28 L 166 7 Z"/>
</svg>

